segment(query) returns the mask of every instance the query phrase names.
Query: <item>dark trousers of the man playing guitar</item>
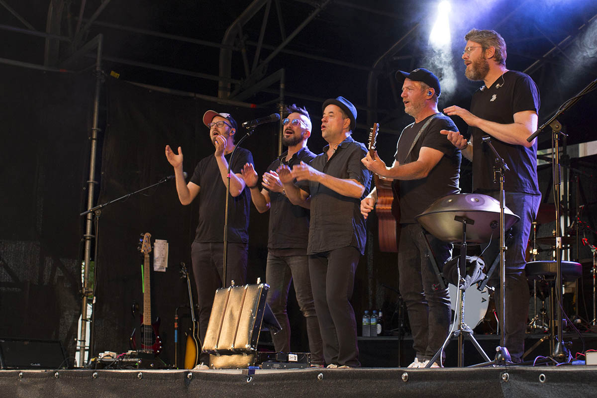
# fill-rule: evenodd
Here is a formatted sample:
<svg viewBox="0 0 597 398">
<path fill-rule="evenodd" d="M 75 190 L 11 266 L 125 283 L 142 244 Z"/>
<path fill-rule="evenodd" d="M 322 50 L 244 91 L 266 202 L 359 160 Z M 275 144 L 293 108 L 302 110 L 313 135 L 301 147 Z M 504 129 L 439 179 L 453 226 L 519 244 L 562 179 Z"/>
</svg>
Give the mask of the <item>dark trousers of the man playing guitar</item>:
<svg viewBox="0 0 597 398">
<path fill-rule="evenodd" d="M 448 288 L 433 288 L 438 277 L 427 256 L 426 239 L 441 267 L 450 258 L 452 245 L 436 239 L 420 224 L 402 224 L 398 246 L 399 288 L 407 305 L 413 348 L 420 361 L 431 359 L 442 346 L 448 337 L 451 316 Z"/>
</svg>

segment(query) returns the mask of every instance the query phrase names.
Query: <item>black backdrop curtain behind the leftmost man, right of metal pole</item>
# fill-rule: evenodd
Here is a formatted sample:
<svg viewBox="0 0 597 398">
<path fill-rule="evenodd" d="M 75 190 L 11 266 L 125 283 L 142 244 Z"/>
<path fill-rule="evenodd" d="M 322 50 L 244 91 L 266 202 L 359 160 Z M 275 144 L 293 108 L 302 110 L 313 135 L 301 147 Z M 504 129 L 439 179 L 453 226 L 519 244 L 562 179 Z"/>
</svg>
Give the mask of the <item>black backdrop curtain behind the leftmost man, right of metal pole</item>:
<svg viewBox="0 0 597 398">
<path fill-rule="evenodd" d="M 173 174 L 164 154 L 166 144 L 175 150 L 182 147 L 184 171 L 190 178 L 196 163 L 214 152 L 208 129 L 201 120 L 206 110 L 228 112 L 239 125 L 275 110 L 230 107 L 147 90 L 116 79 L 107 81 L 106 90 L 107 128 L 99 203 L 119 198 Z M 276 156 L 275 126 L 257 128 L 255 134 L 242 144 L 253 152 L 258 170 L 263 171 Z M 244 129 L 239 128 L 236 141 L 244 134 Z M 151 295 L 152 317 L 159 316 L 162 321 L 159 328 L 164 345 L 161 359 L 168 364 L 174 363 L 174 314 L 177 307 L 188 306 L 189 302 L 186 282 L 180 279 L 179 263 L 183 261 L 191 268 L 190 244 L 195 236 L 198 206 L 196 201 L 189 206 L 181 205 L 174 180 L 171 180 L 103 209 L 97 239 L 96 354 L 104 350 L 128 350 L 131 332 L 139 326 L 139 313 L 134 317 L 132 311 L 134 303 L 139 304 L 141 310 L 143 308 L 143 257 L 137 246 L 140 234 L 149 232 L 152 242 L 153 239 L 165 239 L 169 243 L 168 269 L 152 271 Z M 248 282 L 254 283 L 257 276 L 265 279 L 267 221 L 267 215 L 260 215 L 251 205 Z M 194 288 L 193 283 L 193 294 Z M 179 341 L 183 342 L 187 314 L 187 308 L 179 310 Z"/>
</svg>

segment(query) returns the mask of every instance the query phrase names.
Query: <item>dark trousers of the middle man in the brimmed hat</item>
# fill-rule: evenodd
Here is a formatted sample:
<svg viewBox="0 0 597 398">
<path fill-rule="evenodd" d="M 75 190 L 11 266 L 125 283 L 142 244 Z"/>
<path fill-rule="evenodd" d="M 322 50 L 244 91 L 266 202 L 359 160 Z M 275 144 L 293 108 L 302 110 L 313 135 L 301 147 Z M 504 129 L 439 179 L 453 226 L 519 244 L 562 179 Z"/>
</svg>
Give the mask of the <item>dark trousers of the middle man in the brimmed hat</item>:
<svg viewBox="0 0 597 398">
<path fill-rule="evenodd" d="M 355 311 L 350 304 L 360 257 L 353 246 L 309 256 L 313 299 L 328 365 L 361 366 Z"/>
</svg>

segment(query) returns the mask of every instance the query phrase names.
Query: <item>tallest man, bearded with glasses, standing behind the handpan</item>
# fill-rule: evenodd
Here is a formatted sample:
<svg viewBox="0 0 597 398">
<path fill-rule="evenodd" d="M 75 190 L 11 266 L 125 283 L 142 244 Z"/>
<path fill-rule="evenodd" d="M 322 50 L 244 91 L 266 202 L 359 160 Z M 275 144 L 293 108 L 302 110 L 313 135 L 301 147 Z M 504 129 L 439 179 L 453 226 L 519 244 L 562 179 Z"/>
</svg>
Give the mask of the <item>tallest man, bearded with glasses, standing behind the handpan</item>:
<svg viewBox="0 0 597 398">
<path fill-rule="evenodd" d="M 491 137 L 491 143 L 509 167 L 504 172 L 506 206 L 521 219 L 512 227 L 513 242 L 508 245 L 505 256 L 504 337 L 512 361 L 520 362 L 530 300 L 525 250 L 531 223 L 541 201 L 537 184 L 537 140 L 527 141 L 537 129 L 539 92 L 530 76 L 506 69 L 506 42 L 499 33 L 472 29 L 464 39 L 467 41 L 462 53 L 466 66 L 464 75 L 471 81 L 483 81 L 485 85 L 473 94 L 470 112 L 458 106 L 444 109 L 446 115 L 459 116 L 469 125 L 470 140 L 458 131 L 445 130 L 442 134 L 473 162 L 475 192 L 500 198 L 500 184 L 494 179 L 493 172 L 495 156 L 482 138 Z M 494 239 L 485 251 L 485 258 L 490 261 L 498 254 L 498 241 Z M 490 284 L 496 287 L 500 313 L 498 274 L 493 274 Z"/>
</svg>

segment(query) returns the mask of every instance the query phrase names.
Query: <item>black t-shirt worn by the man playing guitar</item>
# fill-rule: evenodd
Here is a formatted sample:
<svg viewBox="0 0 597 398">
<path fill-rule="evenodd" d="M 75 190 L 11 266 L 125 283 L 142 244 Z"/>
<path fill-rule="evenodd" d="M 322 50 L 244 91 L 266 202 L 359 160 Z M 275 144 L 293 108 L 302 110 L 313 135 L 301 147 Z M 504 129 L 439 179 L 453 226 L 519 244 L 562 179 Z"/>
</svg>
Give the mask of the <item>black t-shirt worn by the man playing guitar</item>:
<svg viewBox="0 0 597 398">
<path fill-rule="evenodd" d="M 442 129 L 456 131 L 456 125 L 454 125 L 452 119 L 441 113 L 437 115 L 421 133 L 414 144 L 413 150 L 408 153 L 418 131 L 431 117 L 428 116 L 418 123 L 405 127 L 396 146 L 394 158 L 401 165 L 416 161 L 421 147 L 429 147 L 444 153 L 444 156 L 429 171 L 426 178 L 393 181 L 393 184 L 399 184 L 401 224 L 415 223 L 414 217 L 425 211 L 436 199 L 460 192 L 458 187 L 460 150 L 454 147 L 445 135 L 439 132 Z"/>
</svg>

